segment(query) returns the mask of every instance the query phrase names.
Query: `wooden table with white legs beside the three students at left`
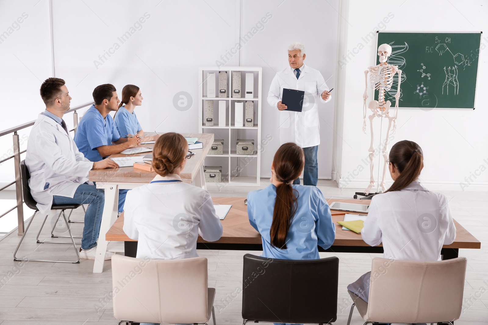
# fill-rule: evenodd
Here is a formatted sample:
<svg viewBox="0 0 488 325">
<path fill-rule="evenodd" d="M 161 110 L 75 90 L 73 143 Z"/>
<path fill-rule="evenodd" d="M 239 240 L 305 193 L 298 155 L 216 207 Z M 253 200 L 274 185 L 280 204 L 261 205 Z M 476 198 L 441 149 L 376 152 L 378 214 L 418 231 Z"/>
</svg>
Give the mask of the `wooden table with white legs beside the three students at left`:
<svg viewBox="0 0 488 325">
<path fill-rule="evenodd" d="M 154 135 L 156 133 L 147 132 L 145 135 Z M 181 173 L 183 182 L 194 184 L 195 186 L 205 189 L 205 177 L 203 176 L 203 161 L 212 146 L 213 134 L 199 134 L 199 133 L 182 133 L 183 136 L 196 137 L 203 143 L 203 149 L 194 149 L 191 152 L 195 153 L 190 159 L 186 161 L 186 165 Z M 143 144 L 140 147 L 152 148 L 154 144 Z M 150 153 L 150 152 L 149 152 Z M 146 153 L 135 153 L 126 155 L 123 153 L 113 154 L 110 157 L 123 156 L 144 156 Z M 103 271 L 104 256 L 107 249 L 107 241 L 103 234 L 107 233 L 108 229 L 114 224 L 117 219 L 117 210 L 119 205 L 119 190 L 131 190 L 143 184 L 149 183 L 156 176 L 156 172 L 145 172 L 134 167 L 120 167 L 120 168 L 106 168 L 91 170 L 88 173 L 88 179 L 97 183 L 97 189 L 104 189 L 105 204 L 103 206 L 102 224 L 100 226 L 100 234 L 97 244 L 97 253 L 95 263 L 93 265 L 93 273 L 101 273 Z"/>
</svg>

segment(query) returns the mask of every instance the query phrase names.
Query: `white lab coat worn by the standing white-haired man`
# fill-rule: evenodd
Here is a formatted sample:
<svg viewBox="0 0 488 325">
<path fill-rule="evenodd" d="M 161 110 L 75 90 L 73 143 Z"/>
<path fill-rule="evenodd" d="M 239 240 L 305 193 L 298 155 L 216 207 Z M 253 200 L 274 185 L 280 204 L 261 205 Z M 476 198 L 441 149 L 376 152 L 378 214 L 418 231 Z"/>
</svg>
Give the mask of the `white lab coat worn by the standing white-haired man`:
<svg viewBox="0 0 488 325">
<path fill-rule="evenodd" d="M 278 102 L 282 100 L 283 88 L 305 91 L 302 112 L 278 110 Z M 325 90 L 329 90 L 329 88 L 325 84 L 322 74 L 305 64 L 298 79 L 290 66 L 276 74 L 269 86 L 268 103 L 273 109 L 276 109 L 280 116 L 281 144 L 295 142 L 302 148 L 320 144 L 318 101 L 325 103 L 331 98 L 322 99 L 322 93 Z"/>
</svg>

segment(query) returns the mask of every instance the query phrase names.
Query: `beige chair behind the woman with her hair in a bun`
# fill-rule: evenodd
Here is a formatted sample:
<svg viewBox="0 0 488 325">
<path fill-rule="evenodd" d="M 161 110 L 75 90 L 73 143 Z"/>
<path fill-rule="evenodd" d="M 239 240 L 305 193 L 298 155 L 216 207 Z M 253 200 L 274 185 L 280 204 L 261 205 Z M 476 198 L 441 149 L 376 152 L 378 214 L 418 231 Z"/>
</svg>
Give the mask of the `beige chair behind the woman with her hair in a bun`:
<svg viewBox="0 0 488 325">
<path fill-rule="evenodd" d="M 207 287 L 207 259 L 112 257 L 114 317 L 121 322 L 215 325 L 215 288 Z"/>
</svg>

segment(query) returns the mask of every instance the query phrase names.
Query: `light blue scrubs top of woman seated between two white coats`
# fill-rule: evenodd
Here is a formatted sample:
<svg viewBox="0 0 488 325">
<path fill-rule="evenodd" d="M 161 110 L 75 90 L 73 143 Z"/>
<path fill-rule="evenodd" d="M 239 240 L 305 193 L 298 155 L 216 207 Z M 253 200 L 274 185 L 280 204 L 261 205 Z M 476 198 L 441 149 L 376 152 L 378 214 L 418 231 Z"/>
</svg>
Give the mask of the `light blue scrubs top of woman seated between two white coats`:
<svg viewBox="0 0 488 325">
<path fill-rule="evenodd" d="M 276 186 L 247 194 L 249 223 L 263 240 L 264 257 L 285 260 L 319 259 L 317 245 L 328 249 L 335 238 L 335 225 L 322 192 L 315 186 L 292 185 L 299 193 L 297 211 L 286 236 L 286 249 L 271 246 L 269 230 L 273 221 Z"/>
</svg>

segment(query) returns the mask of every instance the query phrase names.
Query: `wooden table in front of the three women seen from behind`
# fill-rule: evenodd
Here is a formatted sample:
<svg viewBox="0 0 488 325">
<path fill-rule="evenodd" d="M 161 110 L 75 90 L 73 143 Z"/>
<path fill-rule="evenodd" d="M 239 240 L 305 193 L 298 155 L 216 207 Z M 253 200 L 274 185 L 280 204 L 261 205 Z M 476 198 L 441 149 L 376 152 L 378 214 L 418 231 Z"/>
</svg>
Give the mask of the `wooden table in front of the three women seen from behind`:
<svg viewBox="0 0 488 325">
<path fill-rule="evenodd" d="M 261 235 L 251 227 L 247 218 L 247 206 L 244 204 L 245 197 L 212 197 L 214 203 L 232 204 L 227 216 L 222 220 L 224 233 L 216 242 L 206 242 L 201 237 L 198 238 L 197 249 L 228 249 L 228 250 L 263 250 Z M 329 199 L 327 202 L 347 202 L 358 204 L 369 204 L 369 200 L 359 199 Z M 341 211 L 331 210 L 332 213 Z M 357 214 L 356 212 L 347 212 Z M 357 252 L 357 253 L 382 253 L 383 246 L 371 247 L 361 238 L 361 234 L 353 231 L 342 230 L 342 226 L 337 221 L 344 220 L 344 215 L 333 215 L 332 221 L 336 226 L 336 237 L 332 247 L 319 251 L 328 252 Z M 481 243 L 468 230 L 464 229 L 457 221 L 456 240 L 450 245 L 444 245 L 441 254 L 443 259 L 456 258 L 459 249 L 480 249 Z M 123 215 L 117 219 L 112 228 L 105 235 L 106 240 L 124 241 L 125 255 L 136 257 L 137 241 L 127 237 L 123 232 Z"/>
</svg>

